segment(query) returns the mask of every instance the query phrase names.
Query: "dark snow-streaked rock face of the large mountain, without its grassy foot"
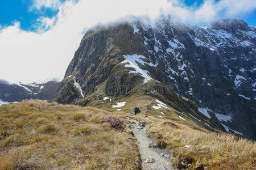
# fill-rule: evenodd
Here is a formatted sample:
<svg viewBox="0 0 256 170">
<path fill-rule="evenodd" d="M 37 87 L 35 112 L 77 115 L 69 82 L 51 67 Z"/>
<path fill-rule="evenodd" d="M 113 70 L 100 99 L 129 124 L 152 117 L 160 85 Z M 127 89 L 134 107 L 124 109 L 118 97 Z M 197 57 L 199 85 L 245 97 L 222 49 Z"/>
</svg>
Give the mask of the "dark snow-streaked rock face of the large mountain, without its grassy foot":
<svg viewBox="0 0 256 170">
<path fill-rule="evenodd" d="M 237 24 L 239 27 L 233 28 Z M 127 74 L 122 62 L 136 54 L 134 63 L 146 70 L 143 73 L 191 99 L 199 111 L 221 123 L 221 129 L 240 135 L 250 129 L 247 136 L 254 138 L 255 32 L 239 19 L 221 19 L 209 25 L 213 28 L 161 20 L 148 28 L 135 21 L 88 30 L 61 82 L 67 88 L 63 94 L 77 94 L 76 88 L 65 86 L 66 81 L 73 83 L 68 78 L 72 75 L 85 96 L 105 81 L 106 86 L 125 85 L 126 92 L 130 91 L 136 84 L 133 82 L 141 82 L 142 74 L 136 69 Z M 225 30 L 228 28 L 229 32 Z M 61 91 L 59 88 L 55 96 L 59 103 Z M 114 88 L 107 95 L 118 96 L 123 92 Z M 79 94 L 72 100 L 64 98 L 67 104 L 82 99 Z M 240 122 L 236 126 L 234 119 Z"/>
</svg>

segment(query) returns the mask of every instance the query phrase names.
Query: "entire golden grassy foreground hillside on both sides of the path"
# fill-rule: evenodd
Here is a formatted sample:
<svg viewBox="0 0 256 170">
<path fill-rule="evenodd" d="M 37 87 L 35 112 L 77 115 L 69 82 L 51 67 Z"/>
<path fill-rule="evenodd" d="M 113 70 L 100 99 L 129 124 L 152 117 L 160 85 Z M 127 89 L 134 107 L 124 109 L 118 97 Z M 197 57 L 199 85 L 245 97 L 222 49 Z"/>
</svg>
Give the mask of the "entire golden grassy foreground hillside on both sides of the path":
<svg viewBox="0 0 256 170">
<path fill-rule="evenodd" d="M 3 104 L 0 169 L 144 169 L 153 163 L 145 163 L 141 157 L 134 127 L 146 130 L 147 140 L 156 147 L 146 147 L 148 150 L 171 155 L 166 160 L 173 168 L 255 167 L 255 142 L 210 132 L 195 118 L 183 114 L 181 119 L 170 105 L 161 106 L 162 115 L 172 112 L 168 119 L 151 116 L 144 109 L 134 116 L 128 102 L 112 111 L 40 100 Z M 113 118 L 118 124 L 109 123 Z"/>
</svg>

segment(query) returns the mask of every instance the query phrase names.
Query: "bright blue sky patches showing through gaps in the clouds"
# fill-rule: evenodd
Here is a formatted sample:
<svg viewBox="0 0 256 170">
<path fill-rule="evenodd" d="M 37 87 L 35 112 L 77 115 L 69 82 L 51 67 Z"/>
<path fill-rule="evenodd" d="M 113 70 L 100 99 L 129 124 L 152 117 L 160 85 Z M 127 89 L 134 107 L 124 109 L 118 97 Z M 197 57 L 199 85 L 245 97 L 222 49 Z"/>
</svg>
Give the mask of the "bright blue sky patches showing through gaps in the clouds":
<svg viewBox="0 0 256 170">
<path fill-rule="evenodd" d="M 43 0 L 42 0 L 43 1 Z M 47 1 L 47 0 L 46 0 Z M 66 0 L 61 0 L 64 3 Z M 0 24 L 2 27 L 13 25 L 14 22 L 20 23 L 20 28 L 27 31 L 36 31 L 38 19 L 40 17 L 52 18 L 59 12 L 58 8 L 42 6 L 40 9 L 32 8 L 33 0 L 1 0 L 0 1 Z M 187 6 L 199 7 L 204 1 L 184 0 Z M 218 1 L 216 1 L 218 2 Z M 253 0 L 251 1 L 253 3 Z M 256 10 L 250 14 L 238 16 L 245 20 L 249 25 L 256 25 Z"/>
</svg>

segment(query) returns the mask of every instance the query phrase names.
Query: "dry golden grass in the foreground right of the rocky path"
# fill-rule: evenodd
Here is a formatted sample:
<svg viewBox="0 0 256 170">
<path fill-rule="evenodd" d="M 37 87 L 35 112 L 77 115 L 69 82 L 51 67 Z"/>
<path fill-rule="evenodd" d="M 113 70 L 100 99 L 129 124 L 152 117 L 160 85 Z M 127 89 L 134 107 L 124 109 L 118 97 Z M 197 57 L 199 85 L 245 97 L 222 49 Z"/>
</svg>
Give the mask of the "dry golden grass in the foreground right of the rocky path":
<svg viewBox="0 0 256 170">
<path fill-rule="evenodd" d="M 255 142 L 246 139 L 237 140 L 232 134 L 206 133 L 177 122 L 175 124 L 178 128 L 164 125 L 164 121 L 152 122 L 147 130 L 148 134 L 155 134 L 156 140 L 164 141 L 171 149 L 171 161 L 174 167 L 187 169 L 254 169 L 256 167 Z M 185 148 L 186 145 L 191 147 Z"/>
</svg>

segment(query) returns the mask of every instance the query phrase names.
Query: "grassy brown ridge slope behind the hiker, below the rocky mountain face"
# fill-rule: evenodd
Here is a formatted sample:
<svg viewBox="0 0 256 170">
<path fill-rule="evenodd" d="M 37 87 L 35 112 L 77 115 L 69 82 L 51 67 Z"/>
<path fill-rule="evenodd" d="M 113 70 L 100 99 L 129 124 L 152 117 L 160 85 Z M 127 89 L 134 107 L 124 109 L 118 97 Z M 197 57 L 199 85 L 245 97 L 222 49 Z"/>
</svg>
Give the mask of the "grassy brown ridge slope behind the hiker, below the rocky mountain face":
<svg viewBox="0 0 256 170">
<path fill-rule="evenodd" d="M 201 113 L 199 114 L 198 112 L 195 112 L 193 108 L 190 107 L 188 103 L 186 103 L 188 99 L 185 99 L 185 97 L 177 96 L 174 91 L 171 91 L 169 96 L 164 96 L 165 92 L 160 91 L 163 91 L 165 87 L 167 86 L 162 83 L 150 81 L 143 84 L 143 86 L 141 85 L 134 87 L 133 90 L 131 90 L 126 95 L 121 95 L 117 97 L 107 96 L 112 99 L 112 101 L 104 101 L 102 100 L 103 97 L 106 97 L 106 94 L 104 92 L 104 82 L 100 86 L 97 86 L 96 90 L 92 94 L 86 95 L 84 99 L 78 101 L 76 104 L 84 105 L 84 101 L 86 101 L 86 104 L 90 107 L 104 109 L 108 112 L 114 112 L 117 111 L 117 108 L 113 108 L 112 105 L 116 105 L 117 102 L 126 101 L 125 106 L 121 108 L 122 111 L 126 113 L 133 113 L 133 108 L 137 106 L 139 109 L 141 109 L 142 113 L 146 113 L 147 116 L 162 116 L 163 118 L 166 118 L 168 120 L 178 121 L 181 124 L 187 125 L 193 129 L 199 129 L 201 131 L 220 132 L 220 129 L 211 124 L 207 117 L 203 116 L 203 114 Z M 155 101 L 156 99 L 166 103 L 169 109 L 154 109 L 152 107 L 153 105 L 158 106 L 158 103 Z M 87 101 L 89 102 L 87 103 Z M 174 101 L 176 101 L 176 103 L 179 103 L 179 105 L 175 104 Z M 162 114 L 161 112 L 164 114 Z M 201 121 L 196 120 L 195 118 L 189 116 L 189 114 L 187 113 L 193 114 Z M 186 121 L 181 120 L 179 116 L 183 117 Z M 204 124 L 204 122 L 212 126 L 212 128 Z"/>
</svg>

